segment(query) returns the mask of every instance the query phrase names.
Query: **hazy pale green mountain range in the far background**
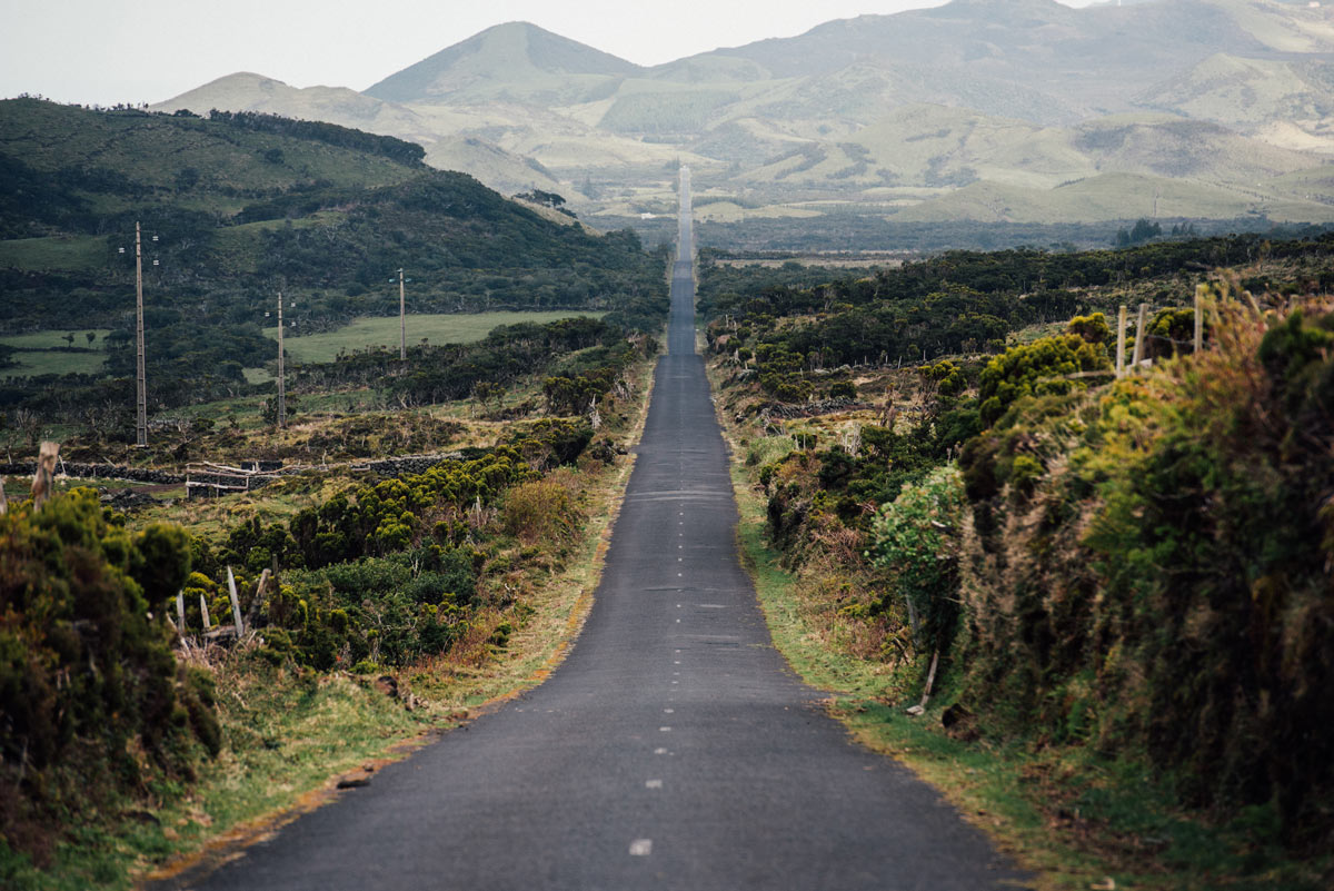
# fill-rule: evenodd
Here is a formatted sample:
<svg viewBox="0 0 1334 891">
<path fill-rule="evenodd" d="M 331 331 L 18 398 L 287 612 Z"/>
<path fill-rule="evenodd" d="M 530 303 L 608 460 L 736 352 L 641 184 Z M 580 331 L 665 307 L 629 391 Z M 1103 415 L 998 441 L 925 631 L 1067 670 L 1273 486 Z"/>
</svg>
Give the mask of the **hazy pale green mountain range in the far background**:
<svg viewBox="0 0 1334 891">
<path fill-rule="evenodd" d="M 1315 185 L 1289 200 L 1282 177 L 1334 157 L 1331 72 L 1326 7 L 954 0 L 647 68 L 511 23 L 387 77 L 360 96 L 372 104 L 283 101 L 325 120 L 355 108 L 427 145 L 428 161 L 506 189 L 547 173 L 532 184 L 595 223 L 667 212 L 682 163 L 700 195 L 766 219 L 892 215 L 974 183 L 1035 189 L 1026 200 L 1041 204 L 1107 175 L 1150 191 L 1091 207 L 1151 207 L 1167 179 L 1201 199 L 1198 212 L 1158 203 L 1183 216 L 1326 219 L 1334 196 Z M 224 99 L 277 95 L 245 89 Z M 1206 200 L 1219 189 L 1226 201 Z"/>
</svg>

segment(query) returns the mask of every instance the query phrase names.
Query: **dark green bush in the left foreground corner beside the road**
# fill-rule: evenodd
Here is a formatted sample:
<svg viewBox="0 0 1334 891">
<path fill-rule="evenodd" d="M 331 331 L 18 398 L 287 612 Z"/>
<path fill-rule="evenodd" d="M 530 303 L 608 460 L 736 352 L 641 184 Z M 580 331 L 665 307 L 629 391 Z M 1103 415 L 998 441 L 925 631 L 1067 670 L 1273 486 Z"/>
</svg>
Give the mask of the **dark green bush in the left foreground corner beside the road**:
<svg viewBox="0 0 1334 891">
<path fill-rule="evenodd" d="M 136 790 L 133 750 L 175 776 L 193 740 L 217 752 L 211 680 L 177 668 L 165 620 L 189 554 L 176 527 L 108 524 L 92 490 L 0 515 L 0 783 L 29 816 Z"/>
</svg>

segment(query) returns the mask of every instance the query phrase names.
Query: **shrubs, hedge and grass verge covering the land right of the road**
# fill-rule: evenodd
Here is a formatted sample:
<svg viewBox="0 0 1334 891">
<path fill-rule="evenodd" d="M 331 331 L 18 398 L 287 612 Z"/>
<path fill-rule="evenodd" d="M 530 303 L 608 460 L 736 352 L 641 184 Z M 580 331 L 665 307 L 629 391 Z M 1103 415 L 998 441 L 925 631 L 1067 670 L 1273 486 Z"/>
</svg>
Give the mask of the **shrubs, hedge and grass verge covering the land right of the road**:
<svg viewBox="0 0 1334 891">
<path fill-rule="evenodd" d="M 1067 287 L 1053 305 L 1089 315 L 1037 339 L 1006 331 L 994 356 L 942 348 L 900 369 L 892 351 L 842 368 L 804 353 L 784 371 L 808 388 L 798 400 L 766 373 L 808 329 L 866 337 L 839 327 L 840 297 L 891 313 L 938 275 L 927 287 L 984 303 L 983 271 L 1047 287 L 1049 259 L 736 288 L 710 323 L 743 500 L 764 518 L 743 542 L 780 644 L 844 691 L 835 711 L 855 732 L 1054 886 L 1317 888 L 1334 875 L 1318 730 L 1331 718 L 1334 315 L 1303 296 L 1327 281 L 1329 252 L 1270 248 L 1285 259 L 1210 276 L 1205 351 L 1189 355 L 1191 312 L 1169 304 L 1149 324 L 1154 367 L 1121 381 L 1097 311 L 1141 293 L 1185 303 L 1194 276 L 1145 263 L 1105 289 Z M 959 317 L 922 331 L 942 337 Z M 834 399 L 839 381 L 870 400 Z M 924 715 L 904 714 L 916 704 Z"/>
</svg>

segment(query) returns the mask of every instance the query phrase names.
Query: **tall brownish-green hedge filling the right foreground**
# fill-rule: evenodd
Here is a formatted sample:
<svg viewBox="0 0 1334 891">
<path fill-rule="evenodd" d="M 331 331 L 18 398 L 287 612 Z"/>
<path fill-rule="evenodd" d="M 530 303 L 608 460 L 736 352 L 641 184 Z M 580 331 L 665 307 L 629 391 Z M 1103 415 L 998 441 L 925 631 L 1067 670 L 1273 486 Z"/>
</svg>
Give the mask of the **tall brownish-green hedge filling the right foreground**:
<svg viewBox="0 0 1334 891">
<path fill-rule="evenodd" d="M 1327 839 L 1331 396 L 1326 307 L 1234 305 L 1199 356 L 970 443 L 964 699 Z"/>
</svg>

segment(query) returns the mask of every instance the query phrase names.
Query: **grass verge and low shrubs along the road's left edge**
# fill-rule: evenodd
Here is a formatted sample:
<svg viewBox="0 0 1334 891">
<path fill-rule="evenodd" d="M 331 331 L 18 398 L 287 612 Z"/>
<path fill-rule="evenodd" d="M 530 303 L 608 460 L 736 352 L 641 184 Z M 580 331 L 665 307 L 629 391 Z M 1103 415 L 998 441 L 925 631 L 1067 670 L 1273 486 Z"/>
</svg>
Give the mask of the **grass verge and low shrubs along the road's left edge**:
<svg viewBox="0 0 1334 891">
<path fill-rule="evenodd" d="M 584 351 L 579 364 L 586 369 L 607 368 L 599 364 L 604 357 L 615 363 L 608 373 L 614 385 L 599 391 L 592 407 L 583 404 L 572 416 L 486 421 L 490 444 L 438 456 L 420 472 L 410 470 L 418 466 L 412 462 L 387 466 L 378 480 L 348 468 L 312 471 L 244 499 L 172 508 L 183 519 L 196 518 L 184 530 L 157 522 L 160 508 L 120 514 L 99 504 L 92 490 L 49 502 L 32 519 L 36 527 L 120 554 L 116 559 L 131 574 L 135 567 L 173 574 L 140 586 L 151 590 L 151 603 L 111 594 L 121 598 L 125 622 L 151 631 L 153 664 L 165 672 L 157 687 L 176 690 L 183 704 L 175 707 L 179 715 L 168 708 L 164 718 L 167 707 L 153 700 L 156 723 L 127 723 L 128 730 L 103 722 L 92 731 L 108 742 L 96 734 L 91 742 L 76 736 L 76 750 L 57 751 L 59 735 L 25 727 L 7 735 L 0 779 L 19 795 L 0 814 L 5 886 L 125 887 L 131 876 L 241 820 L 292 806 L 331 774 L 360 770 L 366 759 L 374 766 L 391 744 L 458 722 L 479 698 L 532 683 L 538 666 L 574 627 L 568 623 L 578 619 L 580 591 L 591 590 L 594 550 L 616 488 L 611 483 L 623 476 L 620 456 L 648 392 L 656 347 L 638 344 L 628 357 Z M 237 511 L 243 502 L 276 508 L 293 495 L 307 507 L 277 515 Z M 19 523 L 29 510 L 20 506 L 0 519 Z M 205 516 L 212 519 L 197 522 Z M 175 550 L 163 551 L 160 539 Z M 56 559 L 21 544 L 11 538 L 7 547 L 36 563 Z M 137 556 L 152 548 L 152 559 Z M 81 564 L 67 558 L 59 556 L 75 574 Z M 219 647 L 201 635 L 205 611 L 213 631 L 232 624 L 229 572 L 247 635 Z M 61 619 L 59 611 L 28 603 L 39 595 L 24 591 L 36 587 L 48 596 L 43 592 L 51 587 L 39 586 L 35 574 L 13 560 L 3 564 L 13 584 L 0 592 L 0 630 L 23 638 L 7 644 L 5 654 L 27 654 L 28 660 L 7 663 L 0 678 L 5 712 L 20 714 L 13 707 L 25 702 L 23 691 L 41 690 L 28 676 L 35 668 L 21 674 L 28 663 L 80 683 L 120 672 L 143 684 L 143 672 L 125 662 L 133 648 L 121 647 L 119 660 L 108 655 L 97 674 L 84 671 L 87 658 L 65 654 L 63 644 L 56 651 L 73 660 L 68 666 L 27 648 L 40 634 L 25 631 L 24 623 Z M 125 584 L 137 591 L 133 582 Z M 173 655 L 168 619 L 179 623 L 177 591 L 192 643 Z M 75 598 L 61 603 L 73 608 Z M 77 603 L 95 608 L 97 600 Z M 153 618 L 144 626 L 149 608 Z M 79 616 L 71 622 L 76 638 L 107 643 Z M 60 690 L 88 699 L 83 687 Z M 123 720 L 137 720 L 141 710 L 129 710 L 127 696 L 116 695 Z M 21 714 L 29 712 L 47 714 L 36 706 Z M 132 731 L 152 744 L 127 746 Z M 27 767 L 11 743 L 27 752 Z M 84 755 L 72 758 L 71 751 Z M 137 772 L 125 772 L 127 752 Z M 52 764 L 53 772 L 36 764 Z M 104 774 L 120 780 L 104 783 Z"/>
</svg>

